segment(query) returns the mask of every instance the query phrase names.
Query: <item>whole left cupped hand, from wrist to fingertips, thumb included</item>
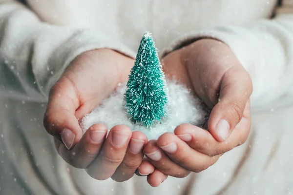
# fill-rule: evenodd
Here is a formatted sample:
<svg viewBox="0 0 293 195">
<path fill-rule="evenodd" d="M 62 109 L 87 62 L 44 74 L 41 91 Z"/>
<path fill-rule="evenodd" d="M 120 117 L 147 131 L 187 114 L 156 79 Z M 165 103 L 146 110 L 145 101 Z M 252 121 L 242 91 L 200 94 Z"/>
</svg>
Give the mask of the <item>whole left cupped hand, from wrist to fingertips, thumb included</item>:
<svg viewBox="0 0 293 195">
<path fill-rule="evenodd" d="M 134 60 L 109 50 L 93 50 L 77 57 L 52 87 L 44 115 L 44 127 L 54 136 L 63 159 L 89 176 L 125 181 L 143 160 L 147 137 L 125 125 L 113 127 L 106 137 L 102 124 L 83 135 L 78 119 L 109 96 L 119 82 L 126 82 Z M 153 167 L 146 167 L 152 172 Z"/>
</svg>

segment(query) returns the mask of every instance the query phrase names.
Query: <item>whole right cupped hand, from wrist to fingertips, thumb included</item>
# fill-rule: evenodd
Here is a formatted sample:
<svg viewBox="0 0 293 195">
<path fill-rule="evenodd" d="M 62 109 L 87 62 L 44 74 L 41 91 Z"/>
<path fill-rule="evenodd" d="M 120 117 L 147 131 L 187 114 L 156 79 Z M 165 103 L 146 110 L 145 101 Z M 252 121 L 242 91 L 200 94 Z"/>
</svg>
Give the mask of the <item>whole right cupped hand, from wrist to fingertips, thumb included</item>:
<svg viewBox="0 0 293 195">
<path fill-rule="evenodd" d="M 185 177 L 207 169 L 246 141 L 251 125 L 251 78 L 231 49 L 214 39 L 195 41 L 167 55 L 163 63 L 168 78 L 186 84 L 212 109 L 208 131 L 182 124 L 174 134 L 150 140 L 144 148 L 156 169 Z"/>
</svg>

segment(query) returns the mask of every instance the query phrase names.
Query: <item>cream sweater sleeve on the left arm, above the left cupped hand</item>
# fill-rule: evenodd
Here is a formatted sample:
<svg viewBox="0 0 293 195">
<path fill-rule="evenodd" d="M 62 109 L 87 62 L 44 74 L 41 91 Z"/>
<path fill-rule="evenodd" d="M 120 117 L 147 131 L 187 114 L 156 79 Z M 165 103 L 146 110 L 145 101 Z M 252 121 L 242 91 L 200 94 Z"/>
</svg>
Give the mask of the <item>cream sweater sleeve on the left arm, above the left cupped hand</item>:
<svg viewBox="0 0 293 195">
<path fill-rule="evenodd" d="M 50 25 L 17 0 L 0 0 L 0 98 L 46 101 L 70 62 L 99 48 L 135 57 L 104 34 Z"/>
</svg>

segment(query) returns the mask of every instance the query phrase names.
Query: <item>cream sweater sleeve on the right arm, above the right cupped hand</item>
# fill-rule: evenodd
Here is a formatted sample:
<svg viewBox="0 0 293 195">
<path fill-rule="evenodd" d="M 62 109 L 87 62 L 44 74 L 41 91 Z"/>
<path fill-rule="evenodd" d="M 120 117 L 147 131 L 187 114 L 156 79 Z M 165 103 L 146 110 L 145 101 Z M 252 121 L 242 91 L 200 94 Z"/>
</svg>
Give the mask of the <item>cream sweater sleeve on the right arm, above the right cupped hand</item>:
<svg viewBox="0 0 293 195">
<path fill-rule="evenodd" d="M 163 56 L 204 38 L 218 39 L 229 45 L 249 72 L 253 83 L 253 110 L 293 103 L 293 0 L 283 0 L 272 20 L 188 33 L 173 42 Z"/>
</svg>

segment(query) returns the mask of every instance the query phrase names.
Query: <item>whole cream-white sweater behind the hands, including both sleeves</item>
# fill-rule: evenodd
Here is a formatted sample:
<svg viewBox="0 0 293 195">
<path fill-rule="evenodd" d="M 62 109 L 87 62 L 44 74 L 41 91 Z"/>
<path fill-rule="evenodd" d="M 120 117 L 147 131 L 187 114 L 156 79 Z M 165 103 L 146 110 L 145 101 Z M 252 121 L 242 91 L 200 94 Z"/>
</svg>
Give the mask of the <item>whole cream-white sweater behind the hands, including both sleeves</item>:
<svg viewBox="0 0 293 195">
<path fill-rule="evenodd" d="M 293 193 L 293 0 L 277 1 L 0 0 L 0 195 Z M 202 37 L 227 43 L 262 110 L 246 144 L 158 188 L 137 176 L 92 179 L 58 156 L 42 127 L 48 91 L 76 56 L 106 47 L 134 58 L 145 31 L 161 57 Z"/>
</svg>

